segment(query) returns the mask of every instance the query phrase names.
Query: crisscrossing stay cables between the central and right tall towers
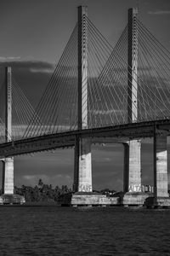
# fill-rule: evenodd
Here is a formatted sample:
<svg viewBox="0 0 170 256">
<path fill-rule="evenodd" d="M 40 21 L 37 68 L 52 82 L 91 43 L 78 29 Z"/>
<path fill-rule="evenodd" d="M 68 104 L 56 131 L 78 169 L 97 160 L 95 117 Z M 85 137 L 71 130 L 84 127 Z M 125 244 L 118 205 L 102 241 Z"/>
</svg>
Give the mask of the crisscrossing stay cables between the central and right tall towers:
<svg viewBox="0 0 170 256">
<path fill-rule="evenodd" d="M 117 55 L 123 57 L 127 54 L 127 26 L 114 49 L 90 20 L 87 29 L 88 127 L 123 123 L 127 95 L 122 91 L 121 73 L 127 68 L 116 58 Z"/>
</svg>

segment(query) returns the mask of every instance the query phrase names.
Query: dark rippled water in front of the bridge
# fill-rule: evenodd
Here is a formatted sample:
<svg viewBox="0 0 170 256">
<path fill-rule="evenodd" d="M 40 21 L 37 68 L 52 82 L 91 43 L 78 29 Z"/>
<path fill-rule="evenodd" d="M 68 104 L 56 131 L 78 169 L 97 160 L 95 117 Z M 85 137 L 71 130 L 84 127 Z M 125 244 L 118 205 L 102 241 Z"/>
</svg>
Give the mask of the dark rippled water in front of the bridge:
<svg viewBox="0 0 170 256">
<path fill-rule="evenodd" d="M 0 207 L 0 255 L 170 255 L 170 210 Z"/>
</svg>

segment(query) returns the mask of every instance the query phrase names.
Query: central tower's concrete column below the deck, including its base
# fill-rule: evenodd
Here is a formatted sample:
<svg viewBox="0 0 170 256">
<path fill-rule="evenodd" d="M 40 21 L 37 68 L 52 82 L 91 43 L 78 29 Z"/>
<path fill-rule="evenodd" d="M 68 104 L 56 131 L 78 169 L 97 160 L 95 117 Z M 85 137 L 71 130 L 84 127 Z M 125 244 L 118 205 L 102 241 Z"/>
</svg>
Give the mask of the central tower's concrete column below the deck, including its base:
<svg viewBox="0 0 170 256">
<path fill-rule="evenodd" d="M 93 206 L 109 204 L 106 195 L 93 192 L 92 188 L 92 156 L 91 140 L 77 138 L 75 143 L 75 170 L 74 170 L 74 195 L 71 198 L 71 205 Z"/>
</svg>

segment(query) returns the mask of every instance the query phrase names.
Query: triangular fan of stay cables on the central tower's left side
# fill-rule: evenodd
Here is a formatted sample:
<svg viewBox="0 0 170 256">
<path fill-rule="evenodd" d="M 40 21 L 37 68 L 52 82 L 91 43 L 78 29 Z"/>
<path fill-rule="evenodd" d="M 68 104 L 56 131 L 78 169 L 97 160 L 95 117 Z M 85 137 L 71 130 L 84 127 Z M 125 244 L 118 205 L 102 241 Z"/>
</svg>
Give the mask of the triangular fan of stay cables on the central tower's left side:
<svg viewBox="0 0 170 256">
<path fill-rule="evenodd" d="M 77 129 L 77 28 L 66 44 L 24 137 Z"/>
</svg>

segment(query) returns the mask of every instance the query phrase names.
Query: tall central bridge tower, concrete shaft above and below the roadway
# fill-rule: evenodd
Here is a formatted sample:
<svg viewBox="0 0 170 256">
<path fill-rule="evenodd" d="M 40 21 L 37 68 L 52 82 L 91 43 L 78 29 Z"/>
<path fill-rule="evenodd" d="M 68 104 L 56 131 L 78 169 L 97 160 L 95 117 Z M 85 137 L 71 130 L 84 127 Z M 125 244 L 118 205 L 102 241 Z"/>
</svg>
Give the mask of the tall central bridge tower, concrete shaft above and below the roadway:
<svg viewBox="0 0 170 256">
<path fill-rule="evenodd" d="M 78 7 L 78 130 L 88 128 L 88 24 L 87 6 Z M 92 192 L 91 142 L 77 137 L 74 191 Z"/>
</svg>

